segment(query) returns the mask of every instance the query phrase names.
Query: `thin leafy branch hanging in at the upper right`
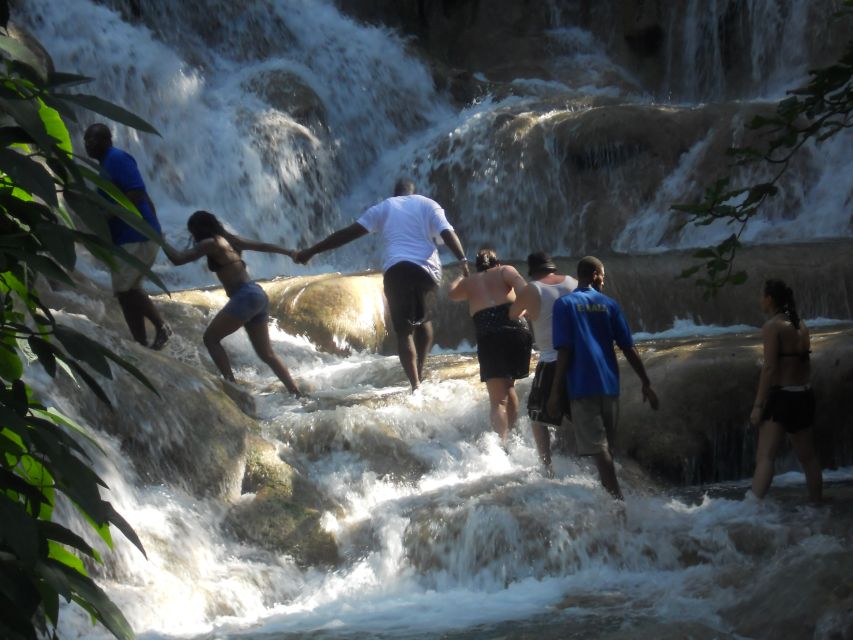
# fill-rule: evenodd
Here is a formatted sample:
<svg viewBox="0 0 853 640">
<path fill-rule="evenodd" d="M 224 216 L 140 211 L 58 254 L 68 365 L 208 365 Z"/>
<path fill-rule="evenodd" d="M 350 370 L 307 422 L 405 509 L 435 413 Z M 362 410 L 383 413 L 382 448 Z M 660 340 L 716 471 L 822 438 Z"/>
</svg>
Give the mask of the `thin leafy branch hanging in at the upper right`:
<svg viewBox="0 0 853 640">
<path fill-rule="evenodd" d="M 839 15 L 853 14 L 853 0 L 845 0 L 844 9 Z M 726 176 L 706 189 L 701 202 L 672 206 L 687 214 L 684 225 L 723 221 L 734 228 L 719 245 L 696 251 L 693 257 L 702 262 L 680 275 L 696 278 L 706 299 L 716 296 L 726 285 L 746 282 L 746 272 L 735 271 L 734 267 L 742 246 L 740 238 L 760 207 L 779 192 L 777 185 L 800 149 L 811 140 L 820 143 L 853 127 L 853 40 L 835 64 L 810 71 L 809 75 L 809 82 L 789 91 L 790 97 L 776 106 L 773 115 L 756 116 L 747 124 L 747 128 L 762 134 L 762 146 L 728 150 L 734 166 L 764 163 L 773 167 L 766 182 L 732 187 L 731 177 Z"/>
</svg>

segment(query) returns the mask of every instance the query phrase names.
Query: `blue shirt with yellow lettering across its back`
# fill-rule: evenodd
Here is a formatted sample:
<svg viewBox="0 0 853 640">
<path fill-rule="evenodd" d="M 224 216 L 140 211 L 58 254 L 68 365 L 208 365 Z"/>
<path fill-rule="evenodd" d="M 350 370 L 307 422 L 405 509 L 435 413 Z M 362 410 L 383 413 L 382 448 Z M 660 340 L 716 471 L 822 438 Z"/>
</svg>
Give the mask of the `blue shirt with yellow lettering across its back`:
<svg viewBox="0 0 853 640">
<path fill-rule="evenodd" d="M 554 303 L 555 349 L 571 349 L 566 376 L 570 398 L 619 395 L 613 344 L 629 349 L 634 339 L 622 309 L 592 287 L 577 288 Z"/>
</svg>

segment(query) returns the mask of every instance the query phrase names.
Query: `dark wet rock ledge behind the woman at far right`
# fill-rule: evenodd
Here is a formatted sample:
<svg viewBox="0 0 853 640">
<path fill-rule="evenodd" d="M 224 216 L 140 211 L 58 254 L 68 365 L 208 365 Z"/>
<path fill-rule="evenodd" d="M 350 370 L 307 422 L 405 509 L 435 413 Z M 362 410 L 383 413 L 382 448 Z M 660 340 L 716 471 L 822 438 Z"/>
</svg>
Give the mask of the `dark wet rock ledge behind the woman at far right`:
<svg viewBox="0 0 853 640">
<path fill-rule="evenodd" d="M 812 331 L 815 437 L 824 467 L 850 464 L 853 329 Z M 748 426 L 761 368 L 757 335 L 657 343 L 642 357 L 660 410 L 642 402 L 639 381 L 620 356 L 622 395 L 617 448 L 670 482 L 710 483 L 748 477 L 755 432 Z M 680 344 L 679 344 L 680 343 Z M 838 363 L 838 364 L 836 364 Z M 783 452 L 787 451 L 783 445 Z M 798 468 L 787 452 L 777 471 Z"/>
</svg>

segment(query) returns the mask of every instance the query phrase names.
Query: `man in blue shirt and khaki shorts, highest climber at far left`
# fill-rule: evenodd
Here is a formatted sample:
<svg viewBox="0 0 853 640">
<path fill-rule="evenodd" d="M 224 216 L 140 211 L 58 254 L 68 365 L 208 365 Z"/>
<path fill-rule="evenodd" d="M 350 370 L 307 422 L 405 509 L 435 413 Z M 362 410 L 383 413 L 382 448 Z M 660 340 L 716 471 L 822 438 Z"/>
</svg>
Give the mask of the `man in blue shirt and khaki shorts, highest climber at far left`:
<svg viewBox="0 0 853 640">
<path fill-rule="evenodd" d="M 161 234 L 157 211 L 145 189 L 136 160 L 129 153 L 113 146 L 109 127 L 101 123 L 93 124 L 86 129 L 83 142 L 86 145 L 86 154 L 96 159 L 101 165 L 101 177 L 118 187 L 128 200 L 136 205 L 143 219 L 158 235 Z M 108 197 L 106 194 L 103 195 Z M 160 246 L 115 216 L 110 218 L 109 226 L 113 244 L 136 257 L 150 269 L 157 258 Z M 145 318 L 148 318 L 156 331 L 151 348 L 159 350 L 172 335 L 172 330 L 143 290 L 144 276 L 141 270 L 119 260 L 112 272 L 113 293 L 121 306 L 133 339 L 142 345 L 148 345 L 145 333 Z"/>
</svg>

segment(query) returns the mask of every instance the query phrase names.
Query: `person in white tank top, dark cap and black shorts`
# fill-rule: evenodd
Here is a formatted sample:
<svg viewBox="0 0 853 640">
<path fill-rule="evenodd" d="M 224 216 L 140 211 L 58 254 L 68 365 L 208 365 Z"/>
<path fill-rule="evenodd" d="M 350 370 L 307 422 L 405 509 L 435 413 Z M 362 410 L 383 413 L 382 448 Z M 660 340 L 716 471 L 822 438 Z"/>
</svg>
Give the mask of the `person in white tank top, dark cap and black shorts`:
<svg viewBox="0 0 853 640">
<path fill-rule="evenodd" d="M 565 442 L 563 418 L 569 417 L 568 405 L 559 416 L 549 416 L 545 411 L 557 362 L 557 352 L 552 342 L 551 316 L 554 302 L 574 291 L 578 281 L 557 273 L 557 265 L 543 251 L 527 256 L 527 267 L 528 275 L 533 280 L 521 291 L 509 313 L 511 318 L 526 315 L 533 327 L 539 364 L 536 365 L 533 385 L 527 397 L 527 415 L 531 420 L 539 459 L 545 466 L 545 474 L 551 477 L 551 435 L 548 425 L 558 429 L 558 441 Z"/>
</svg>

